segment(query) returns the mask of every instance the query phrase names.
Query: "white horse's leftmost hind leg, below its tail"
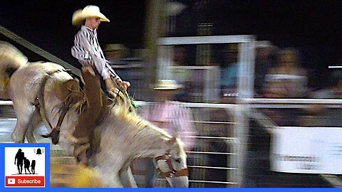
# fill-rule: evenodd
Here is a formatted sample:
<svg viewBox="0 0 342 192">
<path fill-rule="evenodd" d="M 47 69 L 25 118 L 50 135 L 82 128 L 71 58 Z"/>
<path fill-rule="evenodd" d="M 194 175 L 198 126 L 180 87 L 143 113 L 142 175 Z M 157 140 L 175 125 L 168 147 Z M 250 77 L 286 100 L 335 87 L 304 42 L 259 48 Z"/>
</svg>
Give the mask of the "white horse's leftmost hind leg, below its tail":
<svg viewBox="0 0 342 192">
<path fill-rule="evenodd" d="M 31 127 L 32 129 L 32 126 L 33 126 L 31 124 L 32 119 L 36 119 L 35 117 L 36 107 L 33 105 L 23 104 L 23 103 L 14 104 L 14 111 L 16 112 L 17 119 L 16 119 L 16 127 L 14 128 L 14 131 L 12 132 L 11 137 L 13 141 L 16 143 L 24 143 L 28 128 Z"/>
</svg>

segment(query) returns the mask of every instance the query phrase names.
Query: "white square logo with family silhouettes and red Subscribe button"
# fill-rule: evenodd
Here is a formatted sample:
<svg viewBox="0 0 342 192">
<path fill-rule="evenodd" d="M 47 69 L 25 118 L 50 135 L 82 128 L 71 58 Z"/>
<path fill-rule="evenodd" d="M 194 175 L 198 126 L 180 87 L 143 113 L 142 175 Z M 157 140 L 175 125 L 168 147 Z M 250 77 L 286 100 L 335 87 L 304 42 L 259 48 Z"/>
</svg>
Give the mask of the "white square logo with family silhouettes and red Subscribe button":
<svg viewBox="0 0 342 192">
<path fill-rule="evenodd" d="M 44 147 L 5 147 L 5 187 L 45 187 Z"/>
</svg>

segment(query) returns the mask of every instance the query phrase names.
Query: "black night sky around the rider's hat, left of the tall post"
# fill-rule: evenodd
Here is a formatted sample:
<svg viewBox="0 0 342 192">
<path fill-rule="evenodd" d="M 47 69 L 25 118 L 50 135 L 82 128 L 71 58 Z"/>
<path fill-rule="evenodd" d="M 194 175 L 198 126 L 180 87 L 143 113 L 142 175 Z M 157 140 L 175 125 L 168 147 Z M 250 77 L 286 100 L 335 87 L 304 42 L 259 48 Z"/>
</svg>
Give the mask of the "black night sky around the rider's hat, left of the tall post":
<svg viewBox="0 0 342 192">
<path fill-rule="evenodd" d="M 0 1 L 0 24 L 36 46 L 71 64 L 73 38 L 78 28 L 71 18 L 77 9 L 96 5 L 110 19 L 101 23 L 98 38 L 101 46 L 125 43 L 142 46 L 145 1 Z"/>
</svg>

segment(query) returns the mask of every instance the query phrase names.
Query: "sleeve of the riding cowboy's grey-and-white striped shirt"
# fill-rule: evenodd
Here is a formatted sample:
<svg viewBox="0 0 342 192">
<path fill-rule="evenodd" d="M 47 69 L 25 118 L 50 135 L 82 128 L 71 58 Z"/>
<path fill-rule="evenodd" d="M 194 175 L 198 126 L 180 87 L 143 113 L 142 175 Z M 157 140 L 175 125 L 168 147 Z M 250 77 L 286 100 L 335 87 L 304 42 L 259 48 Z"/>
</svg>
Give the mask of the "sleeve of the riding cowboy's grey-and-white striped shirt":
<svg viewBox="0 0 342 192">
<path fill-rule="evenodd" d="M 81 31 L 75 36 L 75 45 L 71 48 L 71 55 L 77 58 L 82 65 L 88 63 L 95 65 L 98 73 L 104 80 L 110 78 L 108 73 L 107 61 L 105 58 L 101 58 L 100 53 L 95 51 L 95 48 L 90 44 L 95 42 L 95 39 L 90 38 L 90 34 L 87 31 Z"/>
</svg>

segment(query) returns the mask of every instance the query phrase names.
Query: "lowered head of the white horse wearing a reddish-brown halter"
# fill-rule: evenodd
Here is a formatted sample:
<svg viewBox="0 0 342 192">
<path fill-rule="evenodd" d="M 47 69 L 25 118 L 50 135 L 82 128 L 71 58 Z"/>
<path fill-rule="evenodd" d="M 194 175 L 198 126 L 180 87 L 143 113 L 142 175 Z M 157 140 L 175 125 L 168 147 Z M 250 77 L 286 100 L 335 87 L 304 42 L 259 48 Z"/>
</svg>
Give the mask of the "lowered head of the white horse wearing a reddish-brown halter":
<svg viewBox="0 0 342 192">
<path fill-rule="evenodd" d="M 155 157 L 155 166 L 171 187 L 189 187 L 187 155 L 180 139 L 170 139 L 170 149 L 164 155 Z"/>
</svg>

